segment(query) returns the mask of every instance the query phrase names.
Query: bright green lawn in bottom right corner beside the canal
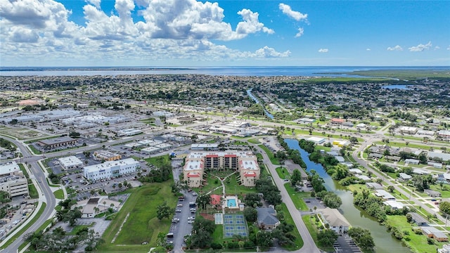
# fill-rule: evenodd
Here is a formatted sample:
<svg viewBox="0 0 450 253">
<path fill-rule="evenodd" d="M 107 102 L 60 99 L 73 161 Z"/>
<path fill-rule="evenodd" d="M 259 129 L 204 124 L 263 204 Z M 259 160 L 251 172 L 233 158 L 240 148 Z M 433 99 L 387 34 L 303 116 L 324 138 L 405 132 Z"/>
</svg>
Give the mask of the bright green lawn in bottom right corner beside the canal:
<svg viewBox="0 0 450 253">
<path fill-rule="evenodd" d="M 436 248 L 442 248 L 442 245 L 446 244 L 446 242 L 438 242 L 437 245 L 429 245 L 427 243 L 427 237 L 425 235 L 417 235 L 413 233 L 411 228 L 415 226 L 414 224 L 408 223 L 406 221 L 406 217 L 402 215 L 388 215 L 387 216 L 387 224 L 399 228 L 401 231 L 408 231 L 409 235 L 405 235 L 403 238 L 403 242 L 408 245 L 413 252 L 424 253 L 424 252 L 436 252 Z"/>
</svg>

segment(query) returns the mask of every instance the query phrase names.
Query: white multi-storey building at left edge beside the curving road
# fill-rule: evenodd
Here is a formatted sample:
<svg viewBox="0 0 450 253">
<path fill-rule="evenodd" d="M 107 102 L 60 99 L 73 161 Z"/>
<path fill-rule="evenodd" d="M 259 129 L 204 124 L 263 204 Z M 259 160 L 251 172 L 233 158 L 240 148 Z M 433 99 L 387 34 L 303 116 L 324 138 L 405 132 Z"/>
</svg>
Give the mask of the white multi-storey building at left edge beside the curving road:
<svg viewBox="0 0 450 253">
<path fill-rule="evenodd" d="M 15 162 L 0 165 L 0 190 L 11 197 L 28 195 L 28 182 Z"/>
</svg>

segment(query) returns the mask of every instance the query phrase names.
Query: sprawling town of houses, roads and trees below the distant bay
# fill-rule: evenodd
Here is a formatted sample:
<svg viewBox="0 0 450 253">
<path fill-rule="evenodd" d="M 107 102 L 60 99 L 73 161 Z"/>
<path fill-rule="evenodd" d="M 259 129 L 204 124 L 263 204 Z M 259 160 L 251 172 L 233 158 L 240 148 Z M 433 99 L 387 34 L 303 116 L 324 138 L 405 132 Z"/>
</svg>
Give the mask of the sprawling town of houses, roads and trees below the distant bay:
<svg viewBox="0 0 450 253">
<path fill-rule="evenodd" d="M 317 77 L 39 77 L 68 84 L 56 89 L 34 78 L 0 77 L 5 249 L 448 247 L 449 98 L 433 95 L 442 79 L 360 81 L 363 92 L 333 79 L 307 91 Z M 136 93 L 119 92 L 131 80 Z M 32 223 L 38 232 L 20 229 Z"/>
</svg>

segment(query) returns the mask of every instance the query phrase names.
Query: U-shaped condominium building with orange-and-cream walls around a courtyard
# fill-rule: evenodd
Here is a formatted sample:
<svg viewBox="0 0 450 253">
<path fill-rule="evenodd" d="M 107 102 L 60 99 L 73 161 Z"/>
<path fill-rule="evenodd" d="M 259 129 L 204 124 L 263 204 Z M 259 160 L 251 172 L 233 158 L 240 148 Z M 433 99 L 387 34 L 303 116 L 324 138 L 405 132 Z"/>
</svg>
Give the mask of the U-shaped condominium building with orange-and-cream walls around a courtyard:
<svg viewBox="0 0 450 253">
<path fill-rule="evenodd" d="M 243 186 L 255 186 L 259 179 L 257 157 L 247 151 L 191 152 L 186 157 L 183 180 L 189 187 L 200 187 L 205 169 L 235 169 Z"/>
</svg>

